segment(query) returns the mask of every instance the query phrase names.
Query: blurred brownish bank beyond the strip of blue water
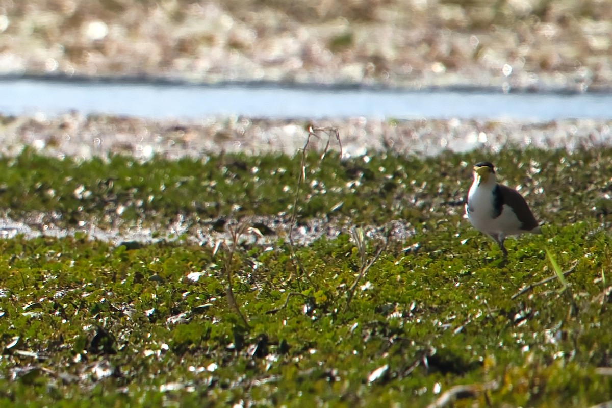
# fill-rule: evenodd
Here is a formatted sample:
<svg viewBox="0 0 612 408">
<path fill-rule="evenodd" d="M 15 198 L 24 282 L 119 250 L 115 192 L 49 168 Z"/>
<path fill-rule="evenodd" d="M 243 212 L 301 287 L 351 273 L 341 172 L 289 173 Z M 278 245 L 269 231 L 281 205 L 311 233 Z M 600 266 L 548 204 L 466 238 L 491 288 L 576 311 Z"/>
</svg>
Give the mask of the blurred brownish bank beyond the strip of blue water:
<svg viewBox="0 0 612 408">
<path fill-rule="evenodd" d="M 608 88 L 603 0 L 0 1 L 5 74 Z"/>
</svg>

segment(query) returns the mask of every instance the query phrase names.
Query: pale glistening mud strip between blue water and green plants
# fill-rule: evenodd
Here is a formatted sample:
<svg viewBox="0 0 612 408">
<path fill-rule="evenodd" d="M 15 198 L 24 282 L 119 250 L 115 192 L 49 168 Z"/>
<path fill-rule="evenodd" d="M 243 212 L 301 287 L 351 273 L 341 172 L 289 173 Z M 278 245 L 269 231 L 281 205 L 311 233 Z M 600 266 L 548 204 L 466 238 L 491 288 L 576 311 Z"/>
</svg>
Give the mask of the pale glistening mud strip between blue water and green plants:
<svg viewBox="0 0 612 408">
<path fill-rule="evenodd" d="M 337 128 L 345 157 L 376 152 L 435 156 L 452 150 L 496 152 L 504 146 L 542 149 L 590 148 L 612 143 L 612 119 L 499 121 L 475 119 L 256 119 L 241 116 L 197 120 L 150 120 L 138 117 L 0 116 L 0 154 L 13 156 L 24 147 L 54 157 L 108 157 L 128 154 L 140 160 L 155 155 L 177 159 L 225 153 L 296 154 L 304 147 L 308 126 Z M 326 140 L 318 142 L 320 148 Z M 316 148 L 316 140 L 310 147 Z M 338 149 L 334 143 L 330 146 Z"/>
</svg>

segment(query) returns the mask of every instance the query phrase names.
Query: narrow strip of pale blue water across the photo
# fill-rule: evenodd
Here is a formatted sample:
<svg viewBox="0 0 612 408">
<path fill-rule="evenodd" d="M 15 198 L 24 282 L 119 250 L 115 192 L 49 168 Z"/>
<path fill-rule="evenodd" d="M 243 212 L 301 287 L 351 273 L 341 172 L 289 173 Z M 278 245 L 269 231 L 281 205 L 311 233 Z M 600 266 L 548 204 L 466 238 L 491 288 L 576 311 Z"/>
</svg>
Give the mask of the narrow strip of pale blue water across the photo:
<svg viewBox="0 0 612 408">
<path fill-rule="evenodd" d="M 128 81 L 0 80 L 0 113 L 113 114 L 149 119 L 239 115 L 270 119 L 612 119 L 609 93 L 510 93 L 493 89 L 401 91 Z"/>
</svg>

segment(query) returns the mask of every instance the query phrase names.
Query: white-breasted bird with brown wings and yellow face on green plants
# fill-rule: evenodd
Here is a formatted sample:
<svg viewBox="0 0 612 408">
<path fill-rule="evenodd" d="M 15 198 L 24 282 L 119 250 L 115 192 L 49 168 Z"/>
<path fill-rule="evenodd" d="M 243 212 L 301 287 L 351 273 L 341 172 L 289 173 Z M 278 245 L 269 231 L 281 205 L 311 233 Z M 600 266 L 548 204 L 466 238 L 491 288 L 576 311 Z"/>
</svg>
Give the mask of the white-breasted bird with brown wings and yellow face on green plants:
<svg viewBox="0 0 612 408">
<path fill-rule="evenodd" d="M 507 236 L 542 233 L 523 196 L 517 190 L 498 183 L 490 161 L 481 161 L 474 166 L 474 182 L 468 191 L 465 212 L 474 228 L 498 243 L 504 259 L 508 257 L 504 247 Z"/>
</svg>

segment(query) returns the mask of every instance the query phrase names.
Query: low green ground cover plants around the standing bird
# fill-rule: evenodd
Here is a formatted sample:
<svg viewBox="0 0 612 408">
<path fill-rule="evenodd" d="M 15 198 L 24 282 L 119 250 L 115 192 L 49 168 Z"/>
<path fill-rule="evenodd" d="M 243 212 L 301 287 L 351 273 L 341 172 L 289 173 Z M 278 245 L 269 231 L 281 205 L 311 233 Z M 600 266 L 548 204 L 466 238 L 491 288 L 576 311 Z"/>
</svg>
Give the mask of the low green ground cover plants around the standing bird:
<svg viewBox="0 0 612 408">
<path fill-rule="evenodd" d="M 463 219 L 483 159 L 545 221 L 542 236 L 507 242 L 505 265 Z M 13 220 L 160 233 L 135 246 L 82 232 L 0 240 L 0 406 L 612 400 L 612 149 L 308 152 L 296 196 L 302 160 L 1 158 Z M 338 234 L 241 239 L 251 217 L 292 214 Z M 225 245 L 165 239 L 176 217 L 229 220 Z"/>
</svg>

